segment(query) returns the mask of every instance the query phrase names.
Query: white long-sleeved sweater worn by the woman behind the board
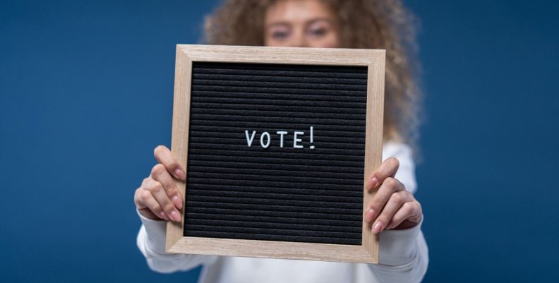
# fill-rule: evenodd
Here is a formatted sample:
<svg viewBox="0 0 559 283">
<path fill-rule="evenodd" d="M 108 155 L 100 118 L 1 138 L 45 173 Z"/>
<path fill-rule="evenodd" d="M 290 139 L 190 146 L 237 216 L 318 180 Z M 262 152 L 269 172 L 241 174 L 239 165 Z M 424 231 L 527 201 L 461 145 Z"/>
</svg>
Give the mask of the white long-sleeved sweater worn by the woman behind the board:
<svg viewBox="0 0 559 283">
<path fill-rule="evenodd" d="M 386 143 L 383 159 L 399 159 L 396 178 L 408 191 L 416 190 L 411 150 L 402 143 Z M 138 215 L 140 215 L 138 213 Z M 200 283 L 273 282 L 420 282 L 427 270 L 428 251 L 421 224 L 406 230 L 380 233 L 379 264 L 330 263 L 311 260 L 279 260 L 215 255 L 165 253 L 165 221 L 140 215 L 138 248 L 157 272 L 191 270 L 203 265 Z"/>
</svg>

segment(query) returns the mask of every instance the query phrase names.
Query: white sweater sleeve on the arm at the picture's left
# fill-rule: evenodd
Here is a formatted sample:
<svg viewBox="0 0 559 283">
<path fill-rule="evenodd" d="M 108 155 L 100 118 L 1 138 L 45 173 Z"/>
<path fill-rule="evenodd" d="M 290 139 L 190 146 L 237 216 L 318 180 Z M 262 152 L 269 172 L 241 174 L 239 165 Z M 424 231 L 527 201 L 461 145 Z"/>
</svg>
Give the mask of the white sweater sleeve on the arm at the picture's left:
<svg viewBox="0 0 559 283">
<path fill-rule="evenodd" d="M 186 271 L 198 265 L 213 263 L 217 259 L 217 256 L 214 255 L 166 253 L 167 222 L 145 218 L 140 212 L 138 215 L 142 221 L 142 227 L 140 227 L 136 242 L 151 270 L 162 273 Z"/>
</svg>

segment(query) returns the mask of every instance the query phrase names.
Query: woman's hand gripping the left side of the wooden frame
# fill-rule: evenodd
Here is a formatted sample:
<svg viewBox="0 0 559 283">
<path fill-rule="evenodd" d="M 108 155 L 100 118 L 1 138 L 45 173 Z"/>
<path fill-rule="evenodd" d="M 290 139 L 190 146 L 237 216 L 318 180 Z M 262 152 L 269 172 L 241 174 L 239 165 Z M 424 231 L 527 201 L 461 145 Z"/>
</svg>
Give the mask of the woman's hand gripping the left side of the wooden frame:
<svg viewBox="0 0 559 283">
<path fill-rule="evenodd" d="M 184 198 L 174 179 L 184 181 L 184 169 L 164 145 L 155 147 L 153 154 L 158 163 L 152 168 L 150 176 L 143 179 L 140 188 L 136 189 L 134 203 L 146 218 L 181 222 L 179 210 L 183 207 Z"/>
</svg>

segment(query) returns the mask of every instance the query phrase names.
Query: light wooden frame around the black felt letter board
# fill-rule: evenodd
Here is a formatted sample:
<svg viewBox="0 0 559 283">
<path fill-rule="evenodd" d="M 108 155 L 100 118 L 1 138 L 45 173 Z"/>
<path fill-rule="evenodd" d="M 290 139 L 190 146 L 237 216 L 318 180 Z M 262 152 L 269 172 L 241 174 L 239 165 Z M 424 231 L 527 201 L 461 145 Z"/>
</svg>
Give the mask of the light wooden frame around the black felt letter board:
<svg viewBox="0 0 559 283">
<path fill-rule="evenodd" d="M 177 45 L 172 152 L 184 168 L 187 168 L 193 61 L 367 66 L 366 146 L 363 179 L 363 215 L 365 214 L 366 205 L 370 203 L 374 194 L 365 189 L 365 183 L 370 178 L 373 169 L 380 166 L 382 158 L 385 50 Z M 181 193 L 185 195 L 186 184 L 183 181 L 176 181 L 176 184 Z M 169 253 L 378 263 L 378 236 L 371 232 L 371 224 L 365 222 L 363 222 L 362 244 L 354 246 L 187 237 L 183 236 L 184 209 L 181 210 L 181 215 L 183 219 L 181 223 L 168 222 L 167 224 L 166 250 Z"/>
</svg>

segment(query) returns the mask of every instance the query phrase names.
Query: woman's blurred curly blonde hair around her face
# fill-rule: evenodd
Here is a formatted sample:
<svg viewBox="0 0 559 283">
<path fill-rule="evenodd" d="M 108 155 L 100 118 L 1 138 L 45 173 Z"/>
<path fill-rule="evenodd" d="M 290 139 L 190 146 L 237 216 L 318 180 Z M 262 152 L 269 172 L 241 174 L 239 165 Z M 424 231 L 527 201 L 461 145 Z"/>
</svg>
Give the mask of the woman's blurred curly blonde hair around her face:
<svg viewBox="0 0 559 283">
<path fill-rule="evenodd" d="M 205 19 L 207 44 L 264 45 L 265 12 L 281 0 L 224 0 Z M 321 0 L 339 20 L 340 47 L 386 49 L 384 138 L 415 146 L 421 91 L 416 18 L 402 0 Z"/>
</svg>

